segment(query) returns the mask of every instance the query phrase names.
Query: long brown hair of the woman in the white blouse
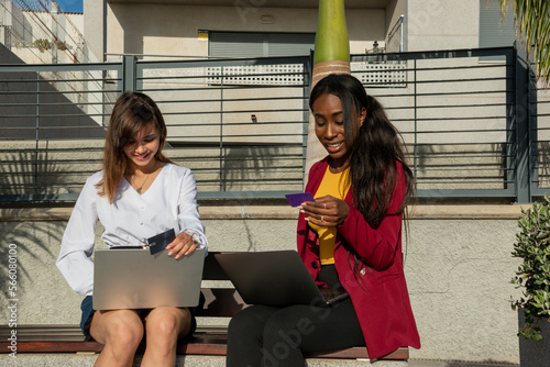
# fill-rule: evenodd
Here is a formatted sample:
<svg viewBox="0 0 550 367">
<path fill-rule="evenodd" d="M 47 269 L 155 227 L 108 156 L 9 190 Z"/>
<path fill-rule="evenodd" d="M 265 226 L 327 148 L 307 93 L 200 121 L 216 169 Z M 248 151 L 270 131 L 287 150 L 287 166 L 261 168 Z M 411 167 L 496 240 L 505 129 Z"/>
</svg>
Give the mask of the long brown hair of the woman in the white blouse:
<svg viewBox="0 0 550 367">
<path fill-rule="evenodd" d="M 114 191 L 128 173 L 129 159 L 124 146 L 144 126 L 154 124 L 160 135 L 158 151 L 155 158 L 163 163 L 170 162 L 162 153 L 166 142 L 166 123 L 163 114 L 151 99 L 141 92 L 122 93 L 112 109 L 109 127 L 107 129 L 103 148 L 103 179 L 97 184 L 99 196 L 105 196 L 110 203 L 114 200 Z"/>
</svg>

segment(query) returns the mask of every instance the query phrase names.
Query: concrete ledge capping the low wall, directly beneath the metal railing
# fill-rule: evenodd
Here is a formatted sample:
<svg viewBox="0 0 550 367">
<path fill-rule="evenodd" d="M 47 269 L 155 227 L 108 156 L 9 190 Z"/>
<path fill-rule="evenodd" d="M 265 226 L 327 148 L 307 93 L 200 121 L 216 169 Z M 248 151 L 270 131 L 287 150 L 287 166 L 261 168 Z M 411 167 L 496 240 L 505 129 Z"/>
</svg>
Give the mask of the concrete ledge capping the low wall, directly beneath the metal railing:
<svg viewBox="0 0 550 367">
<path fill-rule="evenodd" d="M 521 216 L 524 205 L 415 205 L 409 208 L 409 219 L 509 219 Z M 0 209 L 0 222 L 68 221 L 72 208 L 14 208 Z M 204 220 L 238 219 L 297 219 L 298 210 L 287 205 L 200 207 Z"/>
</svg>

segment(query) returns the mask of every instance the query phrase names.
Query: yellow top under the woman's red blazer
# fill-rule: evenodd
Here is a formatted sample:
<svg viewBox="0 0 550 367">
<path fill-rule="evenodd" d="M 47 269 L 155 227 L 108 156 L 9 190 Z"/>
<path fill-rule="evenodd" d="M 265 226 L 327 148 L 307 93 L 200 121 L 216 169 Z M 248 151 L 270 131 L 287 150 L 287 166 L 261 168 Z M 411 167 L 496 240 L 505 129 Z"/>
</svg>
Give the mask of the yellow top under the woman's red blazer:
<svg viewBox="0 0 550 367">
<path fill-rule="evenodd" d="M 322 177 L 321 185 L 317 190 L 315 198 L 321 198 L 330 194 L 337 199 L 344 200 L 350 190 L 350 184 L 348 181 L 348 175 L 350 168 L 345 168 L 339 174 L 332 174 L 327 167 L 327 171 Z M 321 265 L 334 264 L 334 243 L 337 241 L 337 229 L 333 226 L 319 226 L 308 222 L 309 226 L 317 232 L 319 236 L 319 257 L 321 259 Z"/>
</svg>

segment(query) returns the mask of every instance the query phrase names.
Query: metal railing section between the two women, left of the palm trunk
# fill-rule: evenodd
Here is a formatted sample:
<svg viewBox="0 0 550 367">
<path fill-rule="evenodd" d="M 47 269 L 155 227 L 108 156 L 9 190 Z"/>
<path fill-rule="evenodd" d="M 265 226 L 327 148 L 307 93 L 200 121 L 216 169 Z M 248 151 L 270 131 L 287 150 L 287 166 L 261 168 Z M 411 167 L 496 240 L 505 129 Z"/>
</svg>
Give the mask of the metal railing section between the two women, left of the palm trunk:
<svg viewBox="0 0 550 367">
<path fill-rule="evenodd" d="M 135 89 L 158 101 L 168 141 L 194 170 L 201 196 L 296 191 L 302 187 L 308 63 L 136 62 Z"/>
</svg>

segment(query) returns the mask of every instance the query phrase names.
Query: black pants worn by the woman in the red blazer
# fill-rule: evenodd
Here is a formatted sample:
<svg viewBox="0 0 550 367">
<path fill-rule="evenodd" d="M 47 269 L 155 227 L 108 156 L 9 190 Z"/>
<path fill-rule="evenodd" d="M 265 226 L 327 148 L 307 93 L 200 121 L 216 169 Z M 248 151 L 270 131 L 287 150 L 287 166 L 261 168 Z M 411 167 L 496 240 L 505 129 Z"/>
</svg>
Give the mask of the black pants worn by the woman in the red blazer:
<svg viewBox="0 0 550 367">
<path fill-rule="evenodd" d="M 319 279 L 338 286 L 334 266 Z M 233 316 L 228 336 L 228 367 L 304 367 L 304 352 L 365 345 L 350 298 L 330 308 L 252 305 Z"/>
</svg>

